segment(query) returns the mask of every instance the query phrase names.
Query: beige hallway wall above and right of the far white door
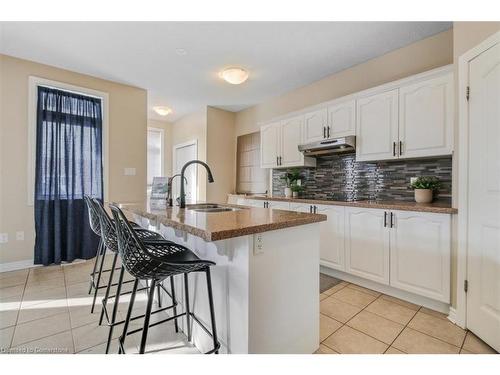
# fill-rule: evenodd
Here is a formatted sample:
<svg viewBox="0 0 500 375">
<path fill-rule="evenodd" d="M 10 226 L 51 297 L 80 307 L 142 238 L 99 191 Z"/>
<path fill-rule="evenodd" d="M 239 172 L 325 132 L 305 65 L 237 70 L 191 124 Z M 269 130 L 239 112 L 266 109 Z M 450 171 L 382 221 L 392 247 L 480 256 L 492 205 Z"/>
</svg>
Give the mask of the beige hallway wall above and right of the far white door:
<svg viewBox="0 0 500 375">
<path fill-rule="evenodd" d="M 198 141 L 198 159 L 207 161 L 207 109 L 186 115 L 172 123 L 172 147 Z M 173 161 L 172 161 L 173 162 Z M 198 168 L 198 200 L 206 200 L 207 175 L 205 168 Z"/>
</svg>

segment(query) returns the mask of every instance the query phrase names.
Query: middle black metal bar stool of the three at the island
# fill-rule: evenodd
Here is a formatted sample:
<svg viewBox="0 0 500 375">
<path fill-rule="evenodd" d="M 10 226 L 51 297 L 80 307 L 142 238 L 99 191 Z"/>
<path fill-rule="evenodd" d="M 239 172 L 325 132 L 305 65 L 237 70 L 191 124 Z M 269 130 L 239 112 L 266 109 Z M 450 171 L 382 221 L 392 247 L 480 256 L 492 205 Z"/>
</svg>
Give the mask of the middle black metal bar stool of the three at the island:
<svg viewBox="0 0 500 375">
<path fill-rule="evenodd" d="M 116 267 L 116 262 L 118 259 L 118 239 L 116 236 L 116 226 L 113 223 L 113 221 L 111 220 L 111 218 L 109 217 L 108 213 L 104 209 L 104 206 L 102 205 L 102 203 L 99 200 L 93 199 L 92 203 L 95 205 L 96 211 L 99 215 L 99 220 L 101 223 L 101 235 L 102 235 L 102 239 L 104 241 L 104 244 L 105 244 L 107 249 L 114 252 L 113 265 L 111 267 L 111 272 L 109 275 L 109 280 L 108 280 L 106 292 L 104 294 L 104 298 L 102 299 L 101 317 L 99 319 L 99 324 L 102 324 L 103 318 L 105 317 L 107 325 L 109 326 L 108 341 L 107 341 L 107 345 L 106 345 L 106 354 L 107 354 L 109 352 L 111 339 L 113 337 L 114 327 L 119 325 L 119 324 L 124 323 L 124 320 L 121 320 L 121 321 L 116 320 L 116 315 L 118 313 L 118 307 L 119 307 L 119 303 L 120 303 L 120 296 L 132 293 L 132 291 L 125 291 L 125 292 L 122 291 L 122 285 L 126 284 L 126 283 L 133 282 L 134 280 L 123 281 L 125 268 L 122 265 L 121 267 L 116 268 L 116 269 L 120 269 L 120 274 L 118 277 L 118 282 L 113 284 L 114 269 Z M 134 230 L 135 234 L 141 240 L 143 240 L 145 242 L 151 241 L 151 240 L 153 240 L 153 241 L 165 240 L 160 234 L 158 234 L 156 232 L 152 232 L 152 231 L 142 229 L 142 228 L 133 229 L 133 230 Z M 116 292 L 114 295 L 110 295 L 111 288 L 113 286 L 117 287 Z M 173 289 L 173 280 L 171 280 L 171 286 Z M 155 311 L 155 313 L 160 312 L 160 311 L 164 311 L 168 308 L 171 308 L 171 306 L 169 306 L 169 307 L 161 309 L 161 290 L 162 289 L 172 298 L 173 304 L 175 304 L 175 305 L 177 304 L 177 302 L 175 301 L 175 298 L 172 296 L 172 294 L 169 293 L 163 287 L 163 285 L 161 283 L 158 283 L 156 285 L 156 288 L 158 290 L 158 304 L 159 304 L 160 309 Z M 144 288 L 141 288 L 140 290 L 148 290 L 148 289 L 149 289 L 149 287 L 146 286 Z M 108 303 L 109 299 L 114 299 L 113 311 L 111 313 L 111 316 L 109 315 L 108 308 L 107 308 L 107 303 Z M 144 317 L 144 315 L 134 317 L 134 319 L 139 319 L 141 317 Z"/>
</svg>

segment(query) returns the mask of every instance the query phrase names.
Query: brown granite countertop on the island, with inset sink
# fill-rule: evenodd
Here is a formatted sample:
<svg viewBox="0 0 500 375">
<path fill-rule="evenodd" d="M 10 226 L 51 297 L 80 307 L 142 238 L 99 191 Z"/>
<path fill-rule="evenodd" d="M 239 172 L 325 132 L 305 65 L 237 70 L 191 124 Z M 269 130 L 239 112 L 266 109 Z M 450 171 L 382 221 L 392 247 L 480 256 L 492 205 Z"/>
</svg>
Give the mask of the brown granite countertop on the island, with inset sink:
<svg viewBox="0 0 500 375">
<path fill-rule="evenodd" d="M 197 212 L 188 208 L 171 207 L 151 210 L 144 203 L 122 203 L 125 213 L 136 214 L 155 223 L 182 230 L 205 241 L 219 241 L 271 230 L 326 221 L 326 215 L 308 214 L 270 208 L 245 207 L 230 204 L 239 210 L 226 212 Z"/>
</svg>

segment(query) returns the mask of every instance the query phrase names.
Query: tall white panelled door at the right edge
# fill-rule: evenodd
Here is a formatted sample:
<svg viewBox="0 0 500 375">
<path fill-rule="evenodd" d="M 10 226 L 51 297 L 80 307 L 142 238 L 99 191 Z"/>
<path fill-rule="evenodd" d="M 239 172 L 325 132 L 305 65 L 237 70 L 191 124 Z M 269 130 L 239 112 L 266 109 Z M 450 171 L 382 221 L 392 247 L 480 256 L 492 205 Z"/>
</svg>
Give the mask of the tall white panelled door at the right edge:
<svg viewBox="0 0 500 375">
<path fill-rule="evenodd" d="M 467 327 L 500 351 L 500 44 L 469 63 Z"/>
</svg>

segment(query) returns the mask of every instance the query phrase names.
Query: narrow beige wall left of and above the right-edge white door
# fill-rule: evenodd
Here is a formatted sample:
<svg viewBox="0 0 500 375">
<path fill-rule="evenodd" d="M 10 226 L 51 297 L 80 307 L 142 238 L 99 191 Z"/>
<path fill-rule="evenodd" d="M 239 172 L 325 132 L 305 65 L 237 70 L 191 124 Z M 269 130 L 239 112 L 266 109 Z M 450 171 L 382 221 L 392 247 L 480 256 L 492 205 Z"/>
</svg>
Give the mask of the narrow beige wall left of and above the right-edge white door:
<svg viewBox="0 0 500 375">
<path fill-rule="evenodd" d="M 453 23 L 453 63 L 455 68 L 455 156 L 453 158 L 452 197 L 453 206 L 458 206 L 458 98 L 465 93 L 458 92 L 458 59 L 465 52 L 481 43 L 495 32 L 500 31 L 500 22 L 454 22 Z M 457 301 L 457 216 L 452 219 L 452 258 L 451 258 L 451 301 L 456 306 Z"/>
</svg>

